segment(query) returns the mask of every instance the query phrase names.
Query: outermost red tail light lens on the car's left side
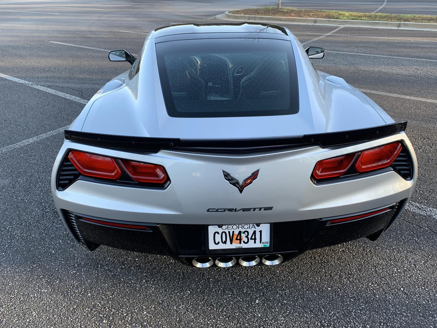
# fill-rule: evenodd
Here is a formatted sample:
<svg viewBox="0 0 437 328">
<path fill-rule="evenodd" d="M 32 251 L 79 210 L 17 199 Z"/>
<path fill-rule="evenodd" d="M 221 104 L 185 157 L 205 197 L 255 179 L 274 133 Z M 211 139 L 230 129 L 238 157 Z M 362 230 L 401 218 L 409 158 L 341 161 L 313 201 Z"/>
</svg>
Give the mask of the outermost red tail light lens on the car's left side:
<svg viewBox="0 0 437 328">
<path fill-rule="evenodd" d="M 117 180 L 121 177 L 121 170 L 111 157 L 71 150 L 68 158 L 83 175 L 112 180 Z"/>
</svg>

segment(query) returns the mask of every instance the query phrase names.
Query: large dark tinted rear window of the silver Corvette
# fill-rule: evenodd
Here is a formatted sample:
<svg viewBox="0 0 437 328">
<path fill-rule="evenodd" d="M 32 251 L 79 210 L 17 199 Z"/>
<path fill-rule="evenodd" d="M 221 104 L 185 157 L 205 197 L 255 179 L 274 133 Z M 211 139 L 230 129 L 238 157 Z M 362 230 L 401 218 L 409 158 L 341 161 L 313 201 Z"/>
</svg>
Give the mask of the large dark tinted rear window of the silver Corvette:
<svg viewBox="0 0 437 328">
<path fill-rule="evenodd" d="M 170 116 L 270 116 L 299 110 L 290 41 L 170 41 L 157 43 L 156 55 Z"/>
</svg>

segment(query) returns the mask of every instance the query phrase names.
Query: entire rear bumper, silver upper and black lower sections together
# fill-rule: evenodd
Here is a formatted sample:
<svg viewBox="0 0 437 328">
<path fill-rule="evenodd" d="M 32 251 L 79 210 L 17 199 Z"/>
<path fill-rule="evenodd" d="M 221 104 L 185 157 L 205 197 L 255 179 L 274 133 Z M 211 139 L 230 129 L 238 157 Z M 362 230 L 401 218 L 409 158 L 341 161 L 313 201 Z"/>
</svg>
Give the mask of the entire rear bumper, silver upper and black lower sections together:
<svg viewBox="0 0 437 328">
<path fill-rule="evenodd" d="M 323 184 L 315 184 L 310 178 L 317 161 L 395 141 L 402 141 L 411 155 L 411 178 L 403 178 L 394 170 Z M 163 189 L 151 189 L 78 179 L 68 188 L 58 190 L 58 168 L 70 149 L 162 165 L 171 183 Z M 256 170 L 260 174 L 243 193 L 230 185 L 223 175 L 223 171 L 231 172 L 243 181 Z M 67 140 L 53 168 L 52 194 L 70 233 L 90 250 L 104 244 L 131 251 L 167 254 L 186 263 L 195 257 L 259 256 L 266 250 L 210 251 L 205 232 L 208 225 L 270 223 L 272 246 L 268 252 L 287 259 L 310 248 L 360 237 L 375 240 L 405 207 L 416 176 L 416 157 L 405 133 L 346 147 L 322 149 L 314 146 L 247 155 L 168 150 L 156 154 L 130 153 Z M 386 206 L 390 211 L 357 221 L 330 225 L 329 220 L 324 220 L 360 215 Z M 98 225 L 80 220 L 77 213 L 146 225 L 149 229 L 136 231 Z"/>
</svg>

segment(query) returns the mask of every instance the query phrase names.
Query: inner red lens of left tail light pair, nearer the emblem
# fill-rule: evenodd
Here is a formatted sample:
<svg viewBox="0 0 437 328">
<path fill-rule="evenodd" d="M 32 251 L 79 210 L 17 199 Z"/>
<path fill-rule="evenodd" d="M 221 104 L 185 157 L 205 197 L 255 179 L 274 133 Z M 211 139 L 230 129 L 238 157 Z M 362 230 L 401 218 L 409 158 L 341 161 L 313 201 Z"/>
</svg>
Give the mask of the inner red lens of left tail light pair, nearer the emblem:
<svg viewBox="0 0 437 328">
<path fill-rule="evenodd" d="M 155 164 L 120 160 L 121 166 L 137 182 L 164 183 L 167 180 L 164 167 Z"/>
</svg>

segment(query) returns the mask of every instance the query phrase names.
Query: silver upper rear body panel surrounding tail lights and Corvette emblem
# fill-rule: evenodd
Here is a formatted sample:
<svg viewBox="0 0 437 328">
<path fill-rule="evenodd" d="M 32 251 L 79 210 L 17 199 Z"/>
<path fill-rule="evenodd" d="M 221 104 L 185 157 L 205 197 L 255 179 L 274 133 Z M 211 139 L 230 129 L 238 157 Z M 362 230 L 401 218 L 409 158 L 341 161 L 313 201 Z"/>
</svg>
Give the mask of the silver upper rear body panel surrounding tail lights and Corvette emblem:
<svg viewBox="0 0 437 328">
<path fill-rule="evenodd" d="M 323 184 L 311 181 L 312 170 L 319 160 L 397 140 L 401 140 L 411 154 L 411 179 L 402 178 L 395 171 L 385 171 Z M 68 188 L 58 190 L 57 172 L 69 149 L 162 165 L 171 182 L 164 189 L 151 189 L 79 179 Z M 257 170 L 260 172 L 257 180 L 243 193 L 229 184 L 222 173 L 229 172 L 243 181 Z M 409 199 L 416 182 L 416 172 L 416 157 L 405 133 L 347 147 L 307 147 L 250 155 L 167 150 L 157 154 L 129 153 L 67 140 L 53 168 L 52 194 L 58 209 L 113 220 L 192 225 L 288 222 L 357 213 Z M 227 210 L 259 207 L 273 209 Z"/>
</svg>

